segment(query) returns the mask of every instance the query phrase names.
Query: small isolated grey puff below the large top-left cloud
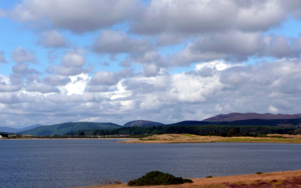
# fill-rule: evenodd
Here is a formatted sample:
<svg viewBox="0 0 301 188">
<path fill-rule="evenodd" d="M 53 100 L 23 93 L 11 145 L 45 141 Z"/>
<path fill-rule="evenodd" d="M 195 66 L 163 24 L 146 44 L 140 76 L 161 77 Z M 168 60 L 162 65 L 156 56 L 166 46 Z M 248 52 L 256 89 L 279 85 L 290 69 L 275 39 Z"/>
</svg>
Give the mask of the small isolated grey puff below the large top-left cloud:
<svg viewBox="0 0 301 188">
<path fill-rule="evenodd" d="M 40 44 L 45 48 L 62 48 L 67 47 L 69 41 L 67 41 L 64 35 L 52 30 L 44 32 L 38 39 L 37 44 Z"/>
</svg>

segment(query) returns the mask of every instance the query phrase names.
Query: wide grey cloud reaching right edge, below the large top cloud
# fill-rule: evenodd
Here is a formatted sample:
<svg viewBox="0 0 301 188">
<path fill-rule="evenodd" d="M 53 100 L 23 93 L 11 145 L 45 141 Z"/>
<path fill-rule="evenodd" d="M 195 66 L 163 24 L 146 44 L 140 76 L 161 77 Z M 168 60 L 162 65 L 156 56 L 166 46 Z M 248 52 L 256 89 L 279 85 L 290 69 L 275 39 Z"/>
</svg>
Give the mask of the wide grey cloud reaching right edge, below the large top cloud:
<svg viewBox="0 0 301 188">
<path fill-rule="evenodd" d="M 299 38 L 263 33 L 223 32 L 204 35 L 189 43 L 172 57 L 170 65 L 225 59 L 247 61 L 250 57 L 296 58 L 300 56 Z"/>
</svg>

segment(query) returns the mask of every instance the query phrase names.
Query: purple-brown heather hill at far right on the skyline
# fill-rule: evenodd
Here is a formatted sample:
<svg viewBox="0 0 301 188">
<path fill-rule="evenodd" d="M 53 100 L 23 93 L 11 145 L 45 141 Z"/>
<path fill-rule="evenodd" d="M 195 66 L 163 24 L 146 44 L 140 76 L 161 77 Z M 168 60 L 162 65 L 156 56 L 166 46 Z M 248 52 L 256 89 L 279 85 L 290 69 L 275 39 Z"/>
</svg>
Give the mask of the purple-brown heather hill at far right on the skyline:
<svg viewBox="0 0 301 188">
<path fill-rule="evenodd" d="M 263 120 L 279 120 L 279 119 L 298 119 L 301 114 L 257 114 L 257 113 L 230 113 L 219 114 L 214 117 L 209 117 L 202 121 L 207 122 L 221 122 L 221 121 L 237 121 L 237 120 L 250 120 L 250 119 L 263 119 Z"/>
</svg>

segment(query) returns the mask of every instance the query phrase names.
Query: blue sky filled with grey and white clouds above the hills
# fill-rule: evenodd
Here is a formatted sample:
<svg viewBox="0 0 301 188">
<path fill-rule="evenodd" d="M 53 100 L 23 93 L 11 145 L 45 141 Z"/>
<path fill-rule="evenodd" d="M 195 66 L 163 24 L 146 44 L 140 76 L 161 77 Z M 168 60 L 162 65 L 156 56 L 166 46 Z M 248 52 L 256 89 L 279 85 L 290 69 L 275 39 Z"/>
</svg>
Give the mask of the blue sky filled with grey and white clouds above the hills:
<svg viewBox="0 0 301 188">
<path fill-rule="evenodd" d="M 10 0 L 0 26 L 0 126 L 301 113 L 299 0 Z"/>
</svg>

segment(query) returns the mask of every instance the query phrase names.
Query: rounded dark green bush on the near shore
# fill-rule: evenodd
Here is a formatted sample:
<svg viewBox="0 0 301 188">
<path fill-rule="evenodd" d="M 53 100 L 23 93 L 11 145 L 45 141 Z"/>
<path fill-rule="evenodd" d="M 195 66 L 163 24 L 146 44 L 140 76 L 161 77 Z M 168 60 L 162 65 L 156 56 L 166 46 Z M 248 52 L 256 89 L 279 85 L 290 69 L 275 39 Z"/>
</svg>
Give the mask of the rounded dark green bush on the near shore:
<svg viewBox="0 0 301 188">
<path fill-rule="evenodd" d="M 151 171 L 138 179 L 128 181 L 128 186 L 144 186 L 144 185 L 172 185 L 182 183 L 192 183 L 190 179 L 175 177 L 172 174 L 163 173 L 160 171 Z"/>
</svg>

